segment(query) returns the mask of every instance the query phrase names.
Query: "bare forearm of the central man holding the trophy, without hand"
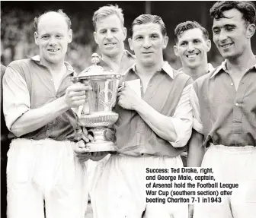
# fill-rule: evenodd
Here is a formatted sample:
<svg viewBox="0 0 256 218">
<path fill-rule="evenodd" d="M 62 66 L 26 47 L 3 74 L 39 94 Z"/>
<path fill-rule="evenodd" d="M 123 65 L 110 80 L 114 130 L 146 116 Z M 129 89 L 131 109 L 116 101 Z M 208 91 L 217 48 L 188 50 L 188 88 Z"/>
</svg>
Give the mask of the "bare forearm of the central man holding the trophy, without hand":
<svg viewBox="0 0 256 218">
<path fill-rule="evenodd" d="M 136 104 L 134 109 L 146 124 L 152 128 L 155 134 L 158 134 L 159 137 L 162 137 L 166 141 L 176 141 L 177 134 L 170 117 L 157 112 L 143 100 L 139 104 Z"/>
</svg>

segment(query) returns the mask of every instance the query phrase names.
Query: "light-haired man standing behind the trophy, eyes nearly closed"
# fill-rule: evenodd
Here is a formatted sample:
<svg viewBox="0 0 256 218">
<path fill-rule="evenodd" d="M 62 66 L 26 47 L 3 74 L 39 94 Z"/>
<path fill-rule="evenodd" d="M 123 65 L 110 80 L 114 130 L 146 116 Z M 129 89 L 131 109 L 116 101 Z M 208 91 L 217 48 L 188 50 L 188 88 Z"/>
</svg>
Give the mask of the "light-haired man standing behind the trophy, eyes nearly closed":
<svg viewBox="0 0 256 218">
<path fill-rule="evenodd" d="M 127 30 L 123 26 L 123 12 L 117 5 L 106 5 L 94 12 L 94 40 L 101 51 L 100 65 L 125 74 L 135 63 L 134 55 L 124 49 Z"/>
</svg>

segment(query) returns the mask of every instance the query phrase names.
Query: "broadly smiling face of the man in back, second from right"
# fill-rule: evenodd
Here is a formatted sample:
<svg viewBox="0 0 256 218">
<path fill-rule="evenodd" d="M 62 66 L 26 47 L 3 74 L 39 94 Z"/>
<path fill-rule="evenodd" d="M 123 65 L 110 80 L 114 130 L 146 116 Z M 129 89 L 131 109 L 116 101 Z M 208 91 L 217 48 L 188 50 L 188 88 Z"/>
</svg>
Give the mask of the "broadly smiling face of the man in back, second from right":
<svg viewBox="0 0 256 218">
<path fill-rule="evenodd" d="M 195 28 L 181 34 L 177 45 L 174 46 L 174 52 L 181 58 L 183 67 L 194 69 L 207 62 L 210 47 L 210 40 L 205 39 L 203 31 Z"/>
</svg>

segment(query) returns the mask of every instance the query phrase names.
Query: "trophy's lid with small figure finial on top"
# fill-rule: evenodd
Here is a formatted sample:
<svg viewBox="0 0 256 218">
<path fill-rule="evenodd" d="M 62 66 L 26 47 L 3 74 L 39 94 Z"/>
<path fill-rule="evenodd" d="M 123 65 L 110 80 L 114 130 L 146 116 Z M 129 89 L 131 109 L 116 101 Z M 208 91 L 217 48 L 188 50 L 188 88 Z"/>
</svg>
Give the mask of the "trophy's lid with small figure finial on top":
<svg viewBox="0 0 256 218">
<path fill-rule="evenodd" d="M 77 77 L 109 77 L 109 76 L 121 76 L 121 74 L 117 74 L 115 71 L 104 71 L 104 68 L 102 68 L 98 63 L 101 62 L 101 56 L 97 53 L 93 53 L 91 55 L 91 63 L 92 65 L 88 68 L 85 68 L 81 73 L 77 75 Z"/>
</svg>

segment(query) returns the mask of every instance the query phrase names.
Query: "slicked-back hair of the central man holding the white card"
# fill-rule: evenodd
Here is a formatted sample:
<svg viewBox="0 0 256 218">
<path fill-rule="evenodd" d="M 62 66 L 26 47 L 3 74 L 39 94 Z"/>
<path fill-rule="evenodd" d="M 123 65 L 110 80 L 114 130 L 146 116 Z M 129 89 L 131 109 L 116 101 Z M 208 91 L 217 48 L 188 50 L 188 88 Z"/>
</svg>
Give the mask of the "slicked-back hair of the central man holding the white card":
<svg viewBox="0 0 256 218">
<path fill-rule="evenodd" d="M 167 31 L 165 28 L 165 23 L 162 21 L 162 18 L 157 15 L 152 14 L 141 14 L 139 17 L 136 17 L 133 21 L 132 27 L 130 28 L 130 37 L 133 37 L 133 27 L 135 25 L 141 25 L 141 24 L 159 24 L 161 27 L 161 32 L 163 36 L 167 35 Z"/>
</svg>

